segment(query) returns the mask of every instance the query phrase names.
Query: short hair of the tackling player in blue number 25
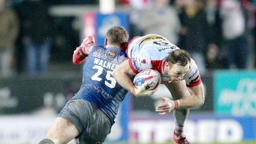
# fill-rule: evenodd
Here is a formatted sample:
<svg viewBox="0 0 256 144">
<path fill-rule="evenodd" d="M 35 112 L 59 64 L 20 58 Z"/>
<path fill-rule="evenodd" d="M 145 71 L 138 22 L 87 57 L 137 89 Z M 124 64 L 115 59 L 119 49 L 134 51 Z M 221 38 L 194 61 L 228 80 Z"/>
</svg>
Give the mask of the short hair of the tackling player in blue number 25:
<svg viewBox="0 0 256 144">
<path fill-rule="evenodd" d="M 129 33 L 121 26 L 114 26 L 107 31 L 106 38 L 110 44 L 122 44 L 128 41 Z"/>
</svg>

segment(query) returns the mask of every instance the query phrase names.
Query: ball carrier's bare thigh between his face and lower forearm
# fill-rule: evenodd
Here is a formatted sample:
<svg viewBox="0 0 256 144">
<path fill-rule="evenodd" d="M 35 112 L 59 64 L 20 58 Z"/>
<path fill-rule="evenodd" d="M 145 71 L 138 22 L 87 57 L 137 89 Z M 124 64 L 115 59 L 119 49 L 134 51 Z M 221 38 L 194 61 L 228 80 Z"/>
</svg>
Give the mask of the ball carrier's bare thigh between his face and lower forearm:
<svg viewBox="0 0 256 144">
<path fill-rule="evenodd" d="M 190 96 L 185 80 L 165 84 L 174 100 Z"/>
</svg>

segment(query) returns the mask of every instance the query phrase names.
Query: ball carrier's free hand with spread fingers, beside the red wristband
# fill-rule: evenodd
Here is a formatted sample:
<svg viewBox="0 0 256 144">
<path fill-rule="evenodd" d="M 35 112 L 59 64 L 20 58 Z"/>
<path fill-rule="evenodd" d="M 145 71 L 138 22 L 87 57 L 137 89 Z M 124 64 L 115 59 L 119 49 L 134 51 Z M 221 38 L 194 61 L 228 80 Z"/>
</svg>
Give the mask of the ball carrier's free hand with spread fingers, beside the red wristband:
<svg viewBox="0 0 256 144">
<path fill-rule="evenodd" d="M 167 97 L 163 97 L 163 96 L 160 96 L 160 97 L 162 100 L 164 100 L 164 103 L 156 107 L 156 112 L 159 112 L 160 115 L 165 115 L 174 109 L 175 103 L 174 101 L 170 100 Z"/>
</svg>

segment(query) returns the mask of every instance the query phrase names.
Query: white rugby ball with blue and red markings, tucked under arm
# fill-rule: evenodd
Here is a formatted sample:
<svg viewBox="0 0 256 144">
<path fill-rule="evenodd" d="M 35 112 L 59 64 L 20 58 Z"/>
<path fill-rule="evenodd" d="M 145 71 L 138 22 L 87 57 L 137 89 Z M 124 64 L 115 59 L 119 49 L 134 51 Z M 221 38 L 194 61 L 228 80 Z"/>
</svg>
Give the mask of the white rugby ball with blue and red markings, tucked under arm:
<svg viewBox="0 0 256 144">
<path fill-rule="evenodd" d="M 157 88 L 161 83 L 162 76 L 161 74 L 154 69 L 147 69 L 140 71 L 135 78 L 133 79 L 133 84 L 136 88 L 141 86 L 143 83 L 148 83 L 146 90 L 152 90 Z"/>
</svg>

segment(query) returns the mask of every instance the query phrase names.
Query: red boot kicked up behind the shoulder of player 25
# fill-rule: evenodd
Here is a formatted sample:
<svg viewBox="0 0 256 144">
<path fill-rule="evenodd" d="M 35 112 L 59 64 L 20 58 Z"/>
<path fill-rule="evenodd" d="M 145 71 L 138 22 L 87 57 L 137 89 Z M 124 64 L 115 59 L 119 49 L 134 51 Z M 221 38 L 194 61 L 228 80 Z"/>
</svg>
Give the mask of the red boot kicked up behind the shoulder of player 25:
<svg viewBox="0 0 256 144">
<path fill-rule="evenodd" d="M 73 63 L 75 65 L 81 64 L 88 56 L 91 49 L 95 46 L 95 40 L 93 36 L 87 36 L 82 44 L 76 48 L 73 54 Z"/>
</svg>

